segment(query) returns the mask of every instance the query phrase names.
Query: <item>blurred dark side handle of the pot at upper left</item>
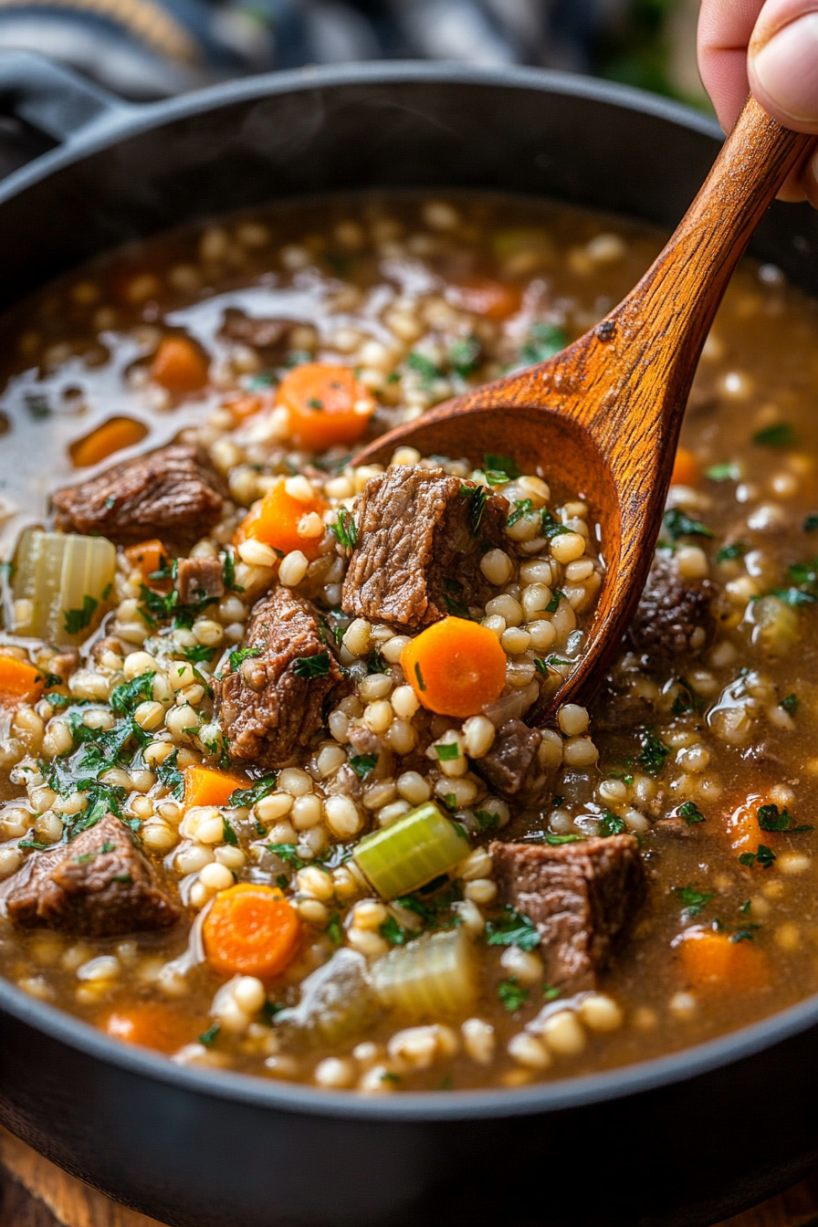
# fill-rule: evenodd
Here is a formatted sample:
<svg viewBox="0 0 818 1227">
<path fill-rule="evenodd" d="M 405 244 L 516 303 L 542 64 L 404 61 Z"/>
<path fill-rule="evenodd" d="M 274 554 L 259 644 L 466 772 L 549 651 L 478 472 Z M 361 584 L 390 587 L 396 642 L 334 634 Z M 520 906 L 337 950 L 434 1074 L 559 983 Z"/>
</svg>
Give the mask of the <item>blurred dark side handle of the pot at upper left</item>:
<svg viewBox="0 0 818 1227">
<path fill-rule="evenodd" d="M 32 52 L 0 53 L 0 101 L 11 114 L 58 144 L 132 112 L 98 85 Z"/>
</svg>

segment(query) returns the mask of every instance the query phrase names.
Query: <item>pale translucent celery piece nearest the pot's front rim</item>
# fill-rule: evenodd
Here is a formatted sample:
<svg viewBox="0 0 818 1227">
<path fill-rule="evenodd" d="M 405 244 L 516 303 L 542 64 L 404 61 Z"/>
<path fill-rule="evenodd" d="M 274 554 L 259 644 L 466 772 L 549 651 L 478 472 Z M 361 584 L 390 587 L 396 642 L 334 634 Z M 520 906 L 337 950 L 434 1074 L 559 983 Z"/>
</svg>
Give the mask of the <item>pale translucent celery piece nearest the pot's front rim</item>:
<svg viewBox="0 0 818 1227">
<path fill-rule="evenodd" d="M 455 1014 L 475 1000 L 473 948 L 464 929 L 395 946 L 370 974 L 383 1005 L 413 1017 Z"/>
</svg>

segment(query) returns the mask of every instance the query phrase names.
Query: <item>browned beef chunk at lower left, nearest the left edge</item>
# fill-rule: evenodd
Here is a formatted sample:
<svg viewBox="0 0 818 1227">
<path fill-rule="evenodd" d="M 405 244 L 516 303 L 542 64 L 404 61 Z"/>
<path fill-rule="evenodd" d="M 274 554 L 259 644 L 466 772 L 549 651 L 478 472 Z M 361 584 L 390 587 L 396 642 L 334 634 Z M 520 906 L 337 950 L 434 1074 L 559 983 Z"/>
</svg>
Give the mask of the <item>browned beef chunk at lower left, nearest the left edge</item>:
<svg viewBox="0 0 818 1227">
<path fill-rule="evenodd" d="M 25 929 L 113 937 L 167 929 L 182 914 L 113 814 L 71 843 L 34 853 L 9 886 L 6 914 Z"/>
</svg>

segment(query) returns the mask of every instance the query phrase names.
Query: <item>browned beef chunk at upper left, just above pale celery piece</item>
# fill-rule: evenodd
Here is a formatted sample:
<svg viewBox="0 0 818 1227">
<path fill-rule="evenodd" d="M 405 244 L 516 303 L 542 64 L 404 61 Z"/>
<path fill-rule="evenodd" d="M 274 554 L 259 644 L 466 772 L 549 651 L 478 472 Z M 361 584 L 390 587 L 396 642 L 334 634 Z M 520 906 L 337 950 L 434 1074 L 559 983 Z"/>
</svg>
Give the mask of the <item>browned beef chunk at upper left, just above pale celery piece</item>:
<svg viewBox="0 0 818 1227">
<path fill-rule="evenodd" d="M 173 443 L 58 490 L 52 501 L 61 533 L 99 533 L 118 545 L 156 536 L 185 548 L 216 524 L 224 490 L 197 448 Z"/>
</svg>

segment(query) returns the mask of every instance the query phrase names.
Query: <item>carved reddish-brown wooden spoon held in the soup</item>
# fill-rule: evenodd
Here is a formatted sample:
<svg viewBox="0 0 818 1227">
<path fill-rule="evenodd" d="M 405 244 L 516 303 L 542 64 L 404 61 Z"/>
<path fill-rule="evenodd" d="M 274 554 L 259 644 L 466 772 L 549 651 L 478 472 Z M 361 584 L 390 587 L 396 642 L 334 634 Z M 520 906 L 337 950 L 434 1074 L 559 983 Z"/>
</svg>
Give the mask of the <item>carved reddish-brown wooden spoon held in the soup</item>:
<svg viewBox="0 0 818 1227">
<path fill-rule="evenodd" d="M 676 233 L 639 285 L 556 357 L 486 384 L 375 439 L 356 464 L 423 455 L 513 456 L 587 502 L 606 575 L 585 655 L 537 710 L 584 702 L 603 677 L 654 556 L 676 444 L 710 324 L 736 264 L 812 136 L 751 97 Z"/>
</svg>

